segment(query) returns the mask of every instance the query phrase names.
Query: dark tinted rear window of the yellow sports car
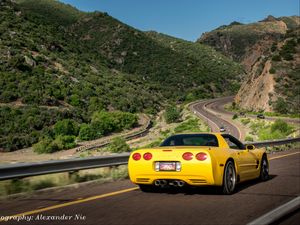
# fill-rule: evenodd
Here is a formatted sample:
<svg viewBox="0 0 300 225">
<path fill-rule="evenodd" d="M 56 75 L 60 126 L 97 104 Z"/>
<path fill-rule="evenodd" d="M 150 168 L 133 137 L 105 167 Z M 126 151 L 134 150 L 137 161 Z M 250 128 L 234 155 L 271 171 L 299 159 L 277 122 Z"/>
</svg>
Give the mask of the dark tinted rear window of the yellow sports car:
<svg viewBox="0 0 300 225">
<path fill-rule="evenodd" d="M 218 147 L 213 134 L 179 134 L 167 138 L 160 146 L 212 146 Z"/>
</svg>

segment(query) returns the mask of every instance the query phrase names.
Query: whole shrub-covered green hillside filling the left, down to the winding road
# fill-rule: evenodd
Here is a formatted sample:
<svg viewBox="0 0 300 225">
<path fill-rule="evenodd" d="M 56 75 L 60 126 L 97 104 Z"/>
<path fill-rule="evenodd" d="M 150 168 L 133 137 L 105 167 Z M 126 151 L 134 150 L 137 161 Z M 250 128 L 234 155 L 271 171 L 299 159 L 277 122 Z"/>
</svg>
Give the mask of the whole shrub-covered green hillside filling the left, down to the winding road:
<svg viewBox="0 0 300 225">
<path fill-rule="evenodd" d="M 64 119 L 86 131 L 99 111 L 156 113 L 178 100 L 231 94 L 242 73 L 207 47 L 202 57 L 218 60 L 214 70 L 106 13 L 54 0 L 2 0 L 0 21 L 3 150 L 56 138 Z"/>
</svg>

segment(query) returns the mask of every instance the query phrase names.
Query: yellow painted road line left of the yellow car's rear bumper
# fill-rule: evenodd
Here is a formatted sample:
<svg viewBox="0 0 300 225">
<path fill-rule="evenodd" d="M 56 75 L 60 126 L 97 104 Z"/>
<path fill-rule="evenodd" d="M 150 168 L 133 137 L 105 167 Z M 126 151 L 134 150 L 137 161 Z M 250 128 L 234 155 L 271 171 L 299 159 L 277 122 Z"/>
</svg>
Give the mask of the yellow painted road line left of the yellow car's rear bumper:
<svg viewBox="0 0 300 225">
<path fill-rule="evenodd" d="M 110 192 L 110 193 L 106 193 L 106 194 L 102 194 L 102 195 L 96 195 L 96 196 L 92 196 L 92 197 L 89 197 L 89 198 L 79 199 L 79 200 L 66 202 L 66 203 L 62 203 L 62 204 L 58 204 L 58 205 L 53 205 L 53 206 L 49 206 L 49 207 L 45 207 L 45 208 L 41 208 L 41 209 L 35 209 L 35 210 L 32 210 L 32 211 L 28 211 L 28 212 L 18 213 L 16 215 L 12 215 L 12 216 L 3 216 L 3 217 L 28 216 L 28 215 L 32 215 L 32 214 L 37 214 L 37 213 L 49 211 L 49 210 L 52 210 L 52 209 L 63 208 L 63 207 L 70 206 L 70 205 L 75 205 L 75 204 L 88 202 L 88 201 L 92 201 L 92 200 L 96 200 L 96 199 L 101 199 L 101 198 L 106 198 L 106 197 L 110 197 L 110 196 L 114 196 L 114 195 L 119 195 L 119 194 L 123 194 L 123 193 L 126 193 L 126 192 L 134 191 L 134 190 L 137 190 L 137 189 L 138 189 L 138 187 L 128 188 L 128 189 L 124 189 L 124 190 L 120 190 L 120 191 Z M 0 219 L 0 222 L 6 222 L 6 221 Z"/>
</svg>

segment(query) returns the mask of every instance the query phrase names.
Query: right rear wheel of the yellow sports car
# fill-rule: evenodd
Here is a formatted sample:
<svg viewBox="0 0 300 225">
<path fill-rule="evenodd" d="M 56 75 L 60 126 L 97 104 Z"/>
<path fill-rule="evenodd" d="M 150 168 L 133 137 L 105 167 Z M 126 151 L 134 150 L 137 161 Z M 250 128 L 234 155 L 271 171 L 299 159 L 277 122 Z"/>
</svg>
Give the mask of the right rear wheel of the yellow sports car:
<svg viewBox="0 0 300 225">
<path fill-rule="evenodd" d="M 224 168 L 222 191 L 225 195 L 230 195 L 234 192 L 236 186 L 236 172 L 234 163 L 228 161 Z"/>
</svg>

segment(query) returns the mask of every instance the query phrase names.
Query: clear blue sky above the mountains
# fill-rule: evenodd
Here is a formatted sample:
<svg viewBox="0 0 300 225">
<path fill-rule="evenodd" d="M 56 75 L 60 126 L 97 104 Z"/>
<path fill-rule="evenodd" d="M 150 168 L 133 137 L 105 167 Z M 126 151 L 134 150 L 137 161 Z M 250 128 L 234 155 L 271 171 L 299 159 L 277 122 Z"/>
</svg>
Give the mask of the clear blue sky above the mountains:
<svg viewBox="0 0 300 225">
<path fill-rule="evenodd" d="M 251 23 L 268 15 L 298 15 L 300 0 L 60 0 L 86 12 L 107 12 L 142 31 L 189 41 L 233 21 Z"/>
</svg>

